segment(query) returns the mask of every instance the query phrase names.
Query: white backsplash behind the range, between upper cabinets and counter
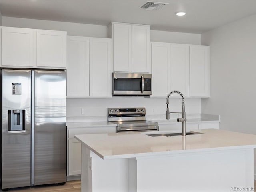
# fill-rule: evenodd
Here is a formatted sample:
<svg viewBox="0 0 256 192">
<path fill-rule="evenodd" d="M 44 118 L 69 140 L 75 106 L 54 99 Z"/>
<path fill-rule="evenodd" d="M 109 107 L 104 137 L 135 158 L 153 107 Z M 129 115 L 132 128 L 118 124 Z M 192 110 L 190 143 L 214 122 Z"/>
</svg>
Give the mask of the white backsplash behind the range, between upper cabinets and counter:
<svg viewBox="0 0 256 192">
<path fill-rule="evenodd" d="M 181 98 L 170 98 L 171 112 L 181 112 Z M 145 107 L 146 119 L 166 118 L 166 98 L 126 97 L 112 98 L 67 98 L 67 122 L 107 121 L 107 108 Z M 82 111 L 84 114 L 82 114 Z M 201 98 L 185 98 L 187 118 L 193 114 L 197 118 L 201 114 Z M 170 118 L 177 118 L 176 114 Z"/>
</svg>

